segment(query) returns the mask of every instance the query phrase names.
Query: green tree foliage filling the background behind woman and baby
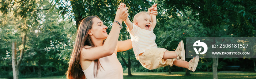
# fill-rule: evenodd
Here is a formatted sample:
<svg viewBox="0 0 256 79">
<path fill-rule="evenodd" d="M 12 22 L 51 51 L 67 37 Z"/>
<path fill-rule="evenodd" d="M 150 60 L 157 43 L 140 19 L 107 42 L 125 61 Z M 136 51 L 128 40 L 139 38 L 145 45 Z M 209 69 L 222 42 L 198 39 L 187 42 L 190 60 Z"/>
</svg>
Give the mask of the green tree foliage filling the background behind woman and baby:
<svg viewBox="0 0 256 79">
<path fill-rule="evenodd" d="M 0 0 L 0 2 L 0 66 L 11 65 L 11 43 L 17 41 L 17 59 L 19 59 L 19 49 L 26 49 L 21 72 L 26 72 L 27 66 L 38 68 L 41 66 L 42 76 L 60 75 L 65 72 L 79 21 L 87 16 L 98 16 L 108 26 L 109 33 L 115 12 L 121 2 L 127 5 L 131 21 L 136 13 L 147 11 L 151 5 L 158 3 L 157 25 L 154 29 L 157 36 L 155 42 L 158 47 L 170 51 L 176 49 L 180 40 L 185 43 L 186 37 L 256 36 L 256 1 L 253 0 Z M 27 35 L 25 47 L 22 46 L 24 34 Z M 124 27 L 120 31 L 119 40 L 129 38 L 129 33 Z M 129 66 L 131 71 L 168 71 L 167 67 L 156 70 L 143 68 L 135 59 L 132 50 L 118 53 L 117 56 L 125 71 Z M 197 71 L 212 71 L 212 59 L 200 60 Z M 231 62 L 227 61 L 229 59 L 217 60 L 219 60 L 218 70 L 222 70 Z M 235 59 L 231 60 L 235 61 Z M 253 58 L 239 60 L 255 63 Z M 35 71 L 39 72 L 38 68 Z M 176 66 L 170 69 L 185 71 L 184 68 Z"/>
</svg>

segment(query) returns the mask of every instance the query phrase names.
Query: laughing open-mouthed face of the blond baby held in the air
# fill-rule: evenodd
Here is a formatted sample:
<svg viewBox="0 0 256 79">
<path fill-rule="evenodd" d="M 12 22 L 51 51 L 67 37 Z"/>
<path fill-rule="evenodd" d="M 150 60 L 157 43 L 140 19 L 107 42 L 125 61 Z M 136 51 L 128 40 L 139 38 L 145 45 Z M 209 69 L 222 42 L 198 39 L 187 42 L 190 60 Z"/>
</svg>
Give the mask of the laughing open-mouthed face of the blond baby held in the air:
<svg viewBox="0 0 256 79">
<path fill-rule="evenodd" d="M 148 14 L 141 14 L 138 19 L 138 24 L 136 24 L 137 26 L 139 26 L 141 29 L 145 29 L 145 30 L 150 30 L 151 26 L 152 26 L 152 20 L 150 15 Z"/>
</svg>

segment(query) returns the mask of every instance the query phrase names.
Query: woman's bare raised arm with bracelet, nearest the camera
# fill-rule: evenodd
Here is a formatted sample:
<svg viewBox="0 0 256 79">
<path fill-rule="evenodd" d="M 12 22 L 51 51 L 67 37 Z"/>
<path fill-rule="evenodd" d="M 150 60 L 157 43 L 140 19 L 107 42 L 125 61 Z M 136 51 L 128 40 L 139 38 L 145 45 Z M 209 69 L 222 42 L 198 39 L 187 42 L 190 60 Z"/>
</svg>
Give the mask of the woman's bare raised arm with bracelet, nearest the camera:
<svg viewBox="0 0 256 79">
<path fill-rule="evenodd" d="M 123 5 L 123 8 L 117 9 L 116 17 L 114 20 L 122 24 L 123 20 L 125 20 L 125 18 L 128 17 L 128 10 L 123 3 L 121 3 L 120 5 Z M 90 49 L 82 49 L 81 56 L 83 59 L 95 60 L 112 55 L 114 53 L 114 50 L 117 46 L 118 36 L 120 33 L 120 25 L 117 22 L 113 23 L 112 29 L 110 30 L 110 33 L 106 38 L 106 41 L 104 42 L 103 46 L 92 47 Z"/>
</svg>

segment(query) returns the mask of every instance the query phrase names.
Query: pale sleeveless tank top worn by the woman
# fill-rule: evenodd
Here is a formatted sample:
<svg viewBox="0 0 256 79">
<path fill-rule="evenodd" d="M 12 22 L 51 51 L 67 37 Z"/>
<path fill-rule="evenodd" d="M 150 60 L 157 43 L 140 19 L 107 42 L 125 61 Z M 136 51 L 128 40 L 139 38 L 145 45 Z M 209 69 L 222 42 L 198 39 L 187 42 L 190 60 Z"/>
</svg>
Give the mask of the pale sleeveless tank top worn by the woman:
<svg viewBox="0 0 256 79">
<path fill-rule="evenodd" d="M 115 53 L 100 58 L 99 62 L 103 68 L 101 66 L 99 67 L 100 70 L 98 71 L 97 77 L 95 76 L 94 78 L 93 76 L 94 60 L 86 70 L 83 70 L 87 79 L 123 79 L 123 67 Z"/>
</svg>

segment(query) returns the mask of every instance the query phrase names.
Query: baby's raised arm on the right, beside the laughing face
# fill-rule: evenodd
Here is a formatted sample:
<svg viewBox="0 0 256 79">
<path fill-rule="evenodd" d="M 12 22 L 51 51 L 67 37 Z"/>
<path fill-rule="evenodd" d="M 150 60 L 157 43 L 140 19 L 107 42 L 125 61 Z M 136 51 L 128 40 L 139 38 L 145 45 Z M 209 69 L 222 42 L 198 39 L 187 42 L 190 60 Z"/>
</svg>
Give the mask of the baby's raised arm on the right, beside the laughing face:
<svg viewBox="0 0 256 79">
<path fill-rule="evenodd" d="M 148 8 L 148 13 L 151 16 L 151 20 L 152 20 L 152 29 L 155 28 L 155 25 L 157 24 L 157 4 L 152 5 L 151 8 Z"/>
</svg>

